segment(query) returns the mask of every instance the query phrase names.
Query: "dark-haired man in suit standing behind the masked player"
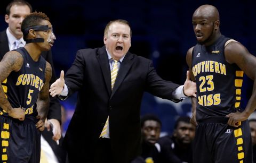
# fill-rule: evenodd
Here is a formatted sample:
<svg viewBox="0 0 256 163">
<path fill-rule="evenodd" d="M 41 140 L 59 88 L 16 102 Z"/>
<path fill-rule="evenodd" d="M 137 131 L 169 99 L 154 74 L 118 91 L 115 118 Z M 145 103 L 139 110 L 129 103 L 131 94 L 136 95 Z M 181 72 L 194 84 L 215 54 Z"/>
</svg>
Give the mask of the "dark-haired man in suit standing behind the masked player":
<svg viewBox="0 0 256 163">
<path fill-rule="evenodd" d="M 5 53 L 18 47 L 25 46 L 26 42 L 23 40 L 23 33 L 21 31 L 21 23 L 23 19 L 32 12 L 31 5 L 23 0 L 14 0 L 6 7 L 5 22 L 9 27 L 0 32 L 0 60 L 2 60 Z M 17 43 L 17 41 L 19 43 Z M 19 45 L 17 45 L 19 44 Z M 56 80 L 51 50 L 45 51 L 41 54 L 47 62 L 52 66 L 52 78 L 50 84 Z M 50 97 L 50 109 L 47 115 L 49 122 L 53 124 L 55 132 L 53 140 L 57 141 L 61 137 L 60 122 L 61 122 L 61 109 L 60 103 L 57 98 Z M 47 128 L 50 128 L 50 123 L 45 123 Z"/>
</svg>

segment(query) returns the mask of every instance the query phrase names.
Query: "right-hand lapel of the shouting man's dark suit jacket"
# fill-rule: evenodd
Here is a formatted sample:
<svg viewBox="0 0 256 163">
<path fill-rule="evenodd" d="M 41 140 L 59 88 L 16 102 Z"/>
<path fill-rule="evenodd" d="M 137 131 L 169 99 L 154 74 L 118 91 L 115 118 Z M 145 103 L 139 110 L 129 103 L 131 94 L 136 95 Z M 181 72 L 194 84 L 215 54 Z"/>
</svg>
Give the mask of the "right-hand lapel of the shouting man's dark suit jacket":
<svg viewBox="0 0 256 163">
<path fill-rule="evenodd" d="M 116 90 L 118 89 L 118 87 L 120 86 L 120 84 L 123 82 L 126 74 L 128 73 L 128 71 L 130 70 L 132 63 L 133 63 L 133 55 L 129 52 L 127 52 L 127 54 L 125 55 L 123 62 L 120 65 L 120 68 L 118 70 L 118 74 L 116 77 L 116 81 L 115 81 L 115 85 L 114 88 L 112 90 L 111 93 L 111 97 L 113 97 L 114 93 L 116 92 Z"/>
</svg>

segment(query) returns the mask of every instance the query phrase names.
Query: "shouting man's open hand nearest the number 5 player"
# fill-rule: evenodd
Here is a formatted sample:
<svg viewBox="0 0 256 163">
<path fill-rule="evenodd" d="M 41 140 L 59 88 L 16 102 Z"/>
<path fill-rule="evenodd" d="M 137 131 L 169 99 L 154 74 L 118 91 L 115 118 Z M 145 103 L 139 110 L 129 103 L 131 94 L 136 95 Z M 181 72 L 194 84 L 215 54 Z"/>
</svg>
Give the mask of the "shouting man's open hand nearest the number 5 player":
<svg viewBox="0 0 256 163">
<path fill-rule="evenodd" d="M 60 78 L 57 79 L 54 83 L 52 83 L 51 87 L 50 87 L 50 95 L 52 97 L 55 97 L 56 95 L 59 95 L 61 93 L 61 91 L 64 88 L 64 84 L 65 84 L 65 80 L 64 80 L 64 71 L 62 70 L 60 72 Z"/>
</svg>

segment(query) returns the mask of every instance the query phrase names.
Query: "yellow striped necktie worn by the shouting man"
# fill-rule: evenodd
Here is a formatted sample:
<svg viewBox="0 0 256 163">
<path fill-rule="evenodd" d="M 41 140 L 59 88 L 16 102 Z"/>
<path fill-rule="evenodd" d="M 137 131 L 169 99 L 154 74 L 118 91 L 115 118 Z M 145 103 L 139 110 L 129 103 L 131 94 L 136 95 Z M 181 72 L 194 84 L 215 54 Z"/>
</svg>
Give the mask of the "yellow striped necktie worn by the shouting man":
<svg viewBox="0 0 256 163">
<path fill-rule="evenodd" d="M 116 76 L 117 76 L 117 72 L 118 72 L 118 67 L 117 67 L 117 62 L 118 61 L 115 60 L 115 59 L 113 59 L 113 61 L 114 61 L 114 65 L 113 65 L 113 68 L 111 70 L 111 90 L 113 90 L 113 88 L 114 88 L 114 84 L 115 84 Z M 109 118 L 109 116 L 108 116 L 108 118 Z M 103 130 L 102 130 L 101 134 L 100 134 L 100 138 L 102 136 L 106 135 L 107 132 L 108 132 L 108 130 L 107 130 L 108 129 L 108 118 L 107 118 L 107 121 L 106 121 L 106 123 L 103 127 Z"/>
</svg>

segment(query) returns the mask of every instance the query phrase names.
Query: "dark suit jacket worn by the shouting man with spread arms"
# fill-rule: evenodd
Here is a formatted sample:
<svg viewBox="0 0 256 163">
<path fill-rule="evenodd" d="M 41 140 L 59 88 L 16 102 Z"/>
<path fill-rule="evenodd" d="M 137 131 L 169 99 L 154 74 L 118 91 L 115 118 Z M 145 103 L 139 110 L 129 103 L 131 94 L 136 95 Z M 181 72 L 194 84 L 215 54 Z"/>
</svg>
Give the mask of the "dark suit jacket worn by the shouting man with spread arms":
<svg viewBox="0 0 256 163">
<path fill-rule="evenodd" d="M 106 47 L 78 50 L 65 76 L 70 96 L 78 91 L 77 106 L 64 145 L 69 161 L 93 162 L 95 143 L 109 116 L 111 150 L 116 163 L 130 162 L 140 149 L 140 105 L 144 91 L 165 99 L 179 85 L 164 81 L 149 59 L 128 52 L 111 91 Z M 71 157 L 71 158 L 70 158 Z M 114 163 L 114 162 L 113 162 Z"/>
</svg>

